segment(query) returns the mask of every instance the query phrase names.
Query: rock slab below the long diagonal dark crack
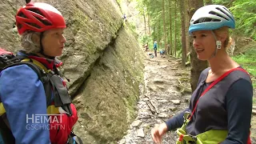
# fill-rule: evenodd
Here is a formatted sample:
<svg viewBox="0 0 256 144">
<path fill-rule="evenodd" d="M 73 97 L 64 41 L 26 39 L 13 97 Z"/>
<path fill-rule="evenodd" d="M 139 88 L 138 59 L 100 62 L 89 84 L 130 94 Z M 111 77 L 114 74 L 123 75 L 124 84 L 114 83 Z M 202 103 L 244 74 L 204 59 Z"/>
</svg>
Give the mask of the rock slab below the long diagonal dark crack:
<svg viewBox="0 0 256 144">
<path fill-rule="evenodd" d="M 114 44 L 94 63 L 90 77 L 74 98 L 80 115 L 76 130 L 86 136 L 86 142 L 100 140 L 99 143 L 106 143 L 122 138 L 120 136 L 134 118 L 143 75 L 140 54 L 134 50 L 136 40 L 126 30 L 118 34 Z M 90 132 L 88 137 L 83 134 L 84 130 Z"/>
</svg>

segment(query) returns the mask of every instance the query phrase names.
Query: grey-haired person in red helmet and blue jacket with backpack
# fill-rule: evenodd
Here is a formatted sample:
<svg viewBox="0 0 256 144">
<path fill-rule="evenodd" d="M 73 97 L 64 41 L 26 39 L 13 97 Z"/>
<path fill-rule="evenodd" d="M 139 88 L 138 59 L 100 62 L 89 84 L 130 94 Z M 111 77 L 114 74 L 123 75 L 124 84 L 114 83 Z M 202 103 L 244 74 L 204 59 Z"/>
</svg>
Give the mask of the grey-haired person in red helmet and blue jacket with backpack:
<svg viewBox="0 0 256 144">
<path fill-rule="evenodd" d="M 5 143 L 74 143 L 72 128 L 78 120 L 77 110 L 57 69 L 62 62 L 55 58 L 64 49 L 66 22 L 53 6 L 26 1 L 26 6 L 16 14 L 23 48 L 18 56 L 35 63 L 47 77 L 39 79 L 35 70 L 26 64 L 2 70 L 2 138 Z M 42 82 L 50 82 L 50 88 L 45 89 Z M 50 91 L 47 93 L 50 98 L 46 91 Z M 2 129 L 4 126 L 8 129 Z"/>
</svg>

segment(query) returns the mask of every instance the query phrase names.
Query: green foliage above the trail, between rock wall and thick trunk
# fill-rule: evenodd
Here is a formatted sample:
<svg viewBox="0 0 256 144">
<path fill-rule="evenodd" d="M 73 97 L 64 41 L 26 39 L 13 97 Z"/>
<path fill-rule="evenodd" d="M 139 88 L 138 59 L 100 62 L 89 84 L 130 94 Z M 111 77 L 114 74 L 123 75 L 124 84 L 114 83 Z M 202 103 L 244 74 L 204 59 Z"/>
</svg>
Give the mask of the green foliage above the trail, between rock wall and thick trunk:
<svg viewBox="0 0 256 144">
<path fill-rule="evenodd" d="M 165 49 L 164 47 L 164 31 L 163 31 L 163 18 L 162 18 L 162 0 L 137 0 L 138 6 L 137 10 L 140 11 L 140 14 L 146 15 L 146 18 L 150 17 L 150 35 L 151 39 L 157 40 L 158 42 L 158 50 Z M 177 22 L 177 53 L 181 50 L 181 14 L 180 10 L 177 7 L 176 14 L 177 17 L 174 18 L 174 9 L 176 6 L 176 2 L 171 0 L 169 4 L 169 0 L 164 0 L 165 6 L 165 19 L 166 19 L 166 42 L 167 43 L 174 43 L 174 22 Z M 170 7 L 169 7 L 170 6 Z M 171 10 L 171 11 L 170 11 Z M 170 32 L 170 13 L 172 19 L 172 30 Z M 170 34 L 171 33 L 171 34 Z M 170 36 L 172 37 L 172 42 L 170 42 Z M 143 39 L 143 38 L 142 38 Z M 149 42 L 150 43 L 150 42 Z M 150 43 L 151 45 L 151 43 Z M 151 46 L 150 46 L 151 48 Z M 172 45 L 174 49 L 174 45 Z"/>
</svg>

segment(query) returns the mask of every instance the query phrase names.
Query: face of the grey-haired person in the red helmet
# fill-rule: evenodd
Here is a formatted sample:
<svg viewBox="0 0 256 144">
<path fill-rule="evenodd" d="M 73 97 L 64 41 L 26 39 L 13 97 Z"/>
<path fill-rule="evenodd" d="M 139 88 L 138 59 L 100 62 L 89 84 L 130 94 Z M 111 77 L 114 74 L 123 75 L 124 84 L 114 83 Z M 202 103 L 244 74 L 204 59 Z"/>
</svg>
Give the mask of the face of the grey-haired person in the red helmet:
<svg viewBox="0 0 256 144">
<path fill-rule="evenodd" d="M 52 29 L 44 32 L 42 37 L 43 52 L 51 57 L 62 55 L 66 38 L 63 35 L 64 29 Z"/>
</svg>

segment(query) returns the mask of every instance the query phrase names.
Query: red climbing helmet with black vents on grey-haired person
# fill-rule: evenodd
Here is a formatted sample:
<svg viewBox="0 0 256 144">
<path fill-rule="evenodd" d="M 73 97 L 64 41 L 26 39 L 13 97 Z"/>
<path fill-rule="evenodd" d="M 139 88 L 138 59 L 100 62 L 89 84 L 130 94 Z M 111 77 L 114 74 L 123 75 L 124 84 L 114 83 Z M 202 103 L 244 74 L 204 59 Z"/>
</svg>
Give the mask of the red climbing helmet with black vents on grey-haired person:
<svg viewBox="0 0 256 144">
<path fill-rule="evenodd" d="M 43 32 L 54 28 L 66 28 L 62 14 L 49 4 L 43 2 L 29 2 L 16 14 L 18 34 L 27 30 Z"/>
</svg>

